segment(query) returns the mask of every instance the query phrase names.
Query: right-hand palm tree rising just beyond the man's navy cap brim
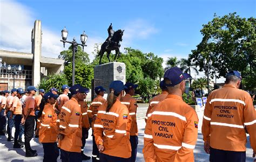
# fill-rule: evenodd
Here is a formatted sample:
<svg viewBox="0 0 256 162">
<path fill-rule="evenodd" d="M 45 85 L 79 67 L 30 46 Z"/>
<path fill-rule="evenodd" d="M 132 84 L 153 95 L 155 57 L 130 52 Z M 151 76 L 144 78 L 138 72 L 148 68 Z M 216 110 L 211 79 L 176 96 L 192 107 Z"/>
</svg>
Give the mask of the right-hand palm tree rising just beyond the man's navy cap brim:
<svg viewBox="0 0 256 162">
<path fill-rule="evenodd" d="M 197 75 L 199 74 L 198 69 L 191 62 L 190 55 L 188 55 L 188 59 L 185 59 L 185 58 L 180 59 L 179 65 L 180 65 L 181 71 L 185 73 L 188 73 L 191 75 L 191 68 L 192 68 L 197 73 Z M 190 87 L 191 87 L 191 80 L 192 78 L 190 78 Z"/>
</svg>

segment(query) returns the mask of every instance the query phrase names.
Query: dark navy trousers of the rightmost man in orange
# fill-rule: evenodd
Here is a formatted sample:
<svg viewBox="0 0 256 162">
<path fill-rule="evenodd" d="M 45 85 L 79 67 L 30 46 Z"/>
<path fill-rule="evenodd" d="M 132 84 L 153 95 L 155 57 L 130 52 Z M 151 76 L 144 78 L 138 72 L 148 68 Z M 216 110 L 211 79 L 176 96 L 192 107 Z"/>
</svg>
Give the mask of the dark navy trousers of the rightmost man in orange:
<svg viewBox="0 0 256 162">
<path fill-rule="evenodd" d="M 211 162 L 245 162 L 245 151 L 225 151 L 210 147 Z"/>
</svg>

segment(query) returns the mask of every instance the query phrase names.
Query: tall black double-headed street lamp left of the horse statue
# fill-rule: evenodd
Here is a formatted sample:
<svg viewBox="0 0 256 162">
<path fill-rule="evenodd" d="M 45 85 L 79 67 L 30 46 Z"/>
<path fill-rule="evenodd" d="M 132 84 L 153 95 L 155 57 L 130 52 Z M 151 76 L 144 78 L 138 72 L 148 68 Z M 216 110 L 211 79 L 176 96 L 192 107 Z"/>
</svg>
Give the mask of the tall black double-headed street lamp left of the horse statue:
<svg viewBox="0 0 256 162">
<path fill-rule="evenodd" d="M 78 44 L 75 37 L 73 38 L 73 41 L 68 41 L 66 40 L 66 38 L 68 37 L 68 31 L 66 30 L 66 27 L 64 27 L 64 29 L 62 30 L 62 41 L 63 42 L 63 46 L 65 48 L 65 43 L 70 43 L 72 44 L 72 52 L 73 52 L 73 55 L 72 55 L 72 86 L 75 84 L 75 53 L 77 52 L 77 46 L 80 45 L 83 47 L 83 51 L 84 51 L 84 46 L 87 46 L 85 45 L 86 43 L 86 40 L 87 40 L 87 35 L 83 32 L 83 34 L 81 34 L 80 36 L 80 40 L 82 42 L 82 44 Z"/>
</svg>

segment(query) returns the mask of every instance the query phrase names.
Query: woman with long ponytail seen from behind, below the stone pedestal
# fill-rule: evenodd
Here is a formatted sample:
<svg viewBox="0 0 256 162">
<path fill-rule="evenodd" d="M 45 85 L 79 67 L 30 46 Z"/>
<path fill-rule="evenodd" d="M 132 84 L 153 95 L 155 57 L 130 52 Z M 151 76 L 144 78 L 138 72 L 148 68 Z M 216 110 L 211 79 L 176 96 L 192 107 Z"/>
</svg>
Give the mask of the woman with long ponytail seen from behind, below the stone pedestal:
<svg viewBox="0 0 256 162">
<path fill-rule="evenodd" d="M 127 107 L 120 102 L 124 95 L 124 83 L 110 83 L 107 101 L 98 109 L 93 135 L 99 150 L 99 160 L 104 162 L 130 162 L 131 117 Z"/>
</svg>

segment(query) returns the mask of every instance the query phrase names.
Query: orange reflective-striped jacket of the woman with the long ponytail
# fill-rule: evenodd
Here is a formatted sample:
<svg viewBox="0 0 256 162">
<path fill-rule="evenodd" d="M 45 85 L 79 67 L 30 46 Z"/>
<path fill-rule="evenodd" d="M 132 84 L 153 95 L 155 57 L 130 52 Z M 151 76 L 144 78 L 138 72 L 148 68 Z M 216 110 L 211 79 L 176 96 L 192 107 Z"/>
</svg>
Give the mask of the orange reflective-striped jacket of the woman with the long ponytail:
<svg viewBox="0 0 256 162">
<path fill-rule="evenodd" d="M 106 112 L 107 103 L 99 107 L 94 124 L 95 142 L 104 146 L 104 154 L 114 157 L 130 158 L 130 126 L 129 110 L 118 99 Z"/>
</svg>

